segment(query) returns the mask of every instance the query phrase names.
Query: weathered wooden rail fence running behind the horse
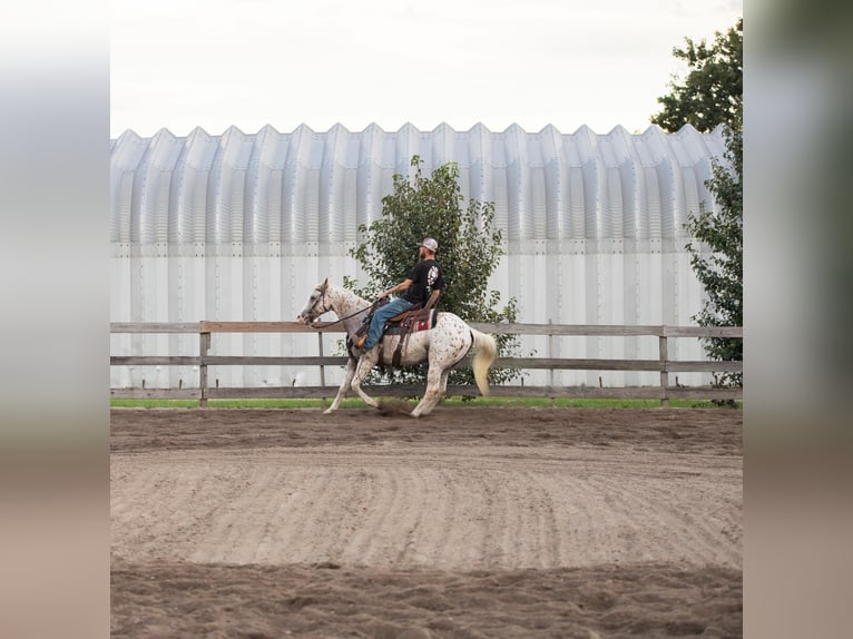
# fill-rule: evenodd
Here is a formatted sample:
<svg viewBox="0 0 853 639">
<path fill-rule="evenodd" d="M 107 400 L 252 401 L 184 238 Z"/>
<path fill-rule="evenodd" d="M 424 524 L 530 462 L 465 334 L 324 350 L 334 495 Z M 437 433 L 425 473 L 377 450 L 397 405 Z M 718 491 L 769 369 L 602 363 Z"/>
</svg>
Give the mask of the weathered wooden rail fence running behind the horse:
<svg viewBox="0 0 853 639">
<path fill-rule="evenodd" d="M 741 373 L 743 362 L 673 361 L 668 356 L 669 340 L 675 337 L 734 337 L 743 338 L 741 326 L 620 326 L 577 324 L 483 324 L 471 326 L 491 334 L 539 335 L 552 340 L 556 336 L 609 336 L 635 337 L 657 336 L 659 348 L 657 360 L 589 360 L 556 357 L 498 357 L 493 366 L 518 370 L 576 370 L 576 371 L 651 371 L 660 374 L 657 386 L 530 386 L 493 385 L 492 395 L 535 397 L 598 397 L 598 399 L 656 399 L 661 405 L 670 399 L 741 400 L 743 389 L 684 386 L 669 384 L 669 373 Z M 212 399 L 331 399 L 337 386 L 325 384 L 325 366 L 343 366 L 345 356 L 323 353 L 323 333 L 341 333 L 341 325 L 315 328 L 296 322 L 190 322 L 190 323 L 121 323 L 110 324 L 114 334 L 197 334 L 198 355 L 111 355 L 111 366 L 198 366 L 198 387 L 179 389 L 110 389 L 114 399 L 188 399 L 198 400 L 202 406 Z M 316 356 L 245 356 L 209 355 L 212 338 L 217 333 L 316 333 Z M 318 366 L 320 386 L 276 387 L 218 387 L 208 380 L 208 366 L 255 365 L 255 366 Z M 470 360 L 460 366 L 470 365 Z M 677 380 L 677 377 L 676 377 Z M 367 393 L 376 396 L 413 396 L 423 392 L 422 385 L 369 386 Z M 449 386 L 448 395 L 478 395 L 475 386 Z"/>
</svg>

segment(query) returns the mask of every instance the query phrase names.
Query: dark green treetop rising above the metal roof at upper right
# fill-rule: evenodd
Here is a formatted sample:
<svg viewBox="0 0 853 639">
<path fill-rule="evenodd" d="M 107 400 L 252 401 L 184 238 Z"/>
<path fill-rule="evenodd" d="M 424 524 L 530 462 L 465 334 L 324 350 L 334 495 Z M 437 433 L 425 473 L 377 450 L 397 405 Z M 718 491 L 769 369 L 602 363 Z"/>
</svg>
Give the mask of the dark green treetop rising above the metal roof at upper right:
<svg viewBox="0 0 853 639">
<path fill-rule="evenodd" d="M 725 33 L 717 31 L 712 46 L 685 38 L 684 49 L 674 48 L 673 56 L 687 62 L 690 71 L 678 83 L 669 82 L 671 92 L 657 99 L 664 108 L 651 117 L 651 124 L 674 132 L 690 124 L 707 132 L 718 125 L 732 126 L 743 110 L 744 94 L 744 20 Z"/>
</svg>

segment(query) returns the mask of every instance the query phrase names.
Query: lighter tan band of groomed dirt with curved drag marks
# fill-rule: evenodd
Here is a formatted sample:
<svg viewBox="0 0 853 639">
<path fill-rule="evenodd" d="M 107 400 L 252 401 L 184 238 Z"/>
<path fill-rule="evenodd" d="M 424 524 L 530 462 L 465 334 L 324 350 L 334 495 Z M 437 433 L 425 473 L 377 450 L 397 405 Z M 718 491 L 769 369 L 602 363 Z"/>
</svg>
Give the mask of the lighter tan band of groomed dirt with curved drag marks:
<svg viewBox="0 0 853 639">
<path fill-rule="evenodd" d="M 548 446 L 114 453 L 114 552 L 463 570 L 739 568 L 739 534 L 720 531 L 739 522 L 739 460 L 704 461 Z M 720 489 L 724 503 L 708 498 Z"/>
</svg>

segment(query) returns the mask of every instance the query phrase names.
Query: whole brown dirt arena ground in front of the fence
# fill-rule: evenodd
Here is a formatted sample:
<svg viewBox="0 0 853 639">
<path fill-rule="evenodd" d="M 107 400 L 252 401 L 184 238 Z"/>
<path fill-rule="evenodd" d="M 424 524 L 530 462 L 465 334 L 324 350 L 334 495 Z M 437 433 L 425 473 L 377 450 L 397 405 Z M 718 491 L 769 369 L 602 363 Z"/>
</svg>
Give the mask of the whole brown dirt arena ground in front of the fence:
<svg viewBox="0 0 853 639">
<path fill-rule="evenodd" d="M 111 411 L 114 637 L 739 637 L 741 411 Z"/>
</svg>

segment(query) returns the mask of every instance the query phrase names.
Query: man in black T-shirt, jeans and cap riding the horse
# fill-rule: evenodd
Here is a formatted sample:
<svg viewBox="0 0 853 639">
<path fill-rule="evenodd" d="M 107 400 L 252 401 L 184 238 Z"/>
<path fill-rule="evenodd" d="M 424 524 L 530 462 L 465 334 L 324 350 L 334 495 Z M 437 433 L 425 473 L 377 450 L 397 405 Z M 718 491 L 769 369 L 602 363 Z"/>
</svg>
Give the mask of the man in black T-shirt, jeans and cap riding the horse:
<svg viewBox="0 0 853 639">
<path fill-rule="evenodd" d="M 375 346 L 382 338 L 382 331 L 385 327 L 385 322 L 394 315 L 409 311 L 409 308 L 415 304 L 424 304 L 424 308 L 432 308 L 438 301 L 439 295 L 441 295 L 441 287 L 444 286 L 441 276 L 441 266 L 435 262 L 435 252 L 438 249 L 439 243 L 431 237 L 426 237 L 419 245 L 419 262 L 409 273 L 409 277 L 396 286 L 380 293 L 379 298 L 382 299 L 398 291 L 405 291 L 405 293 L 401 297 L 392 299 L 384 306 L 381 306 L 373 313 L 370 330 L 366 335 L 362 335 L 355 342 L 356 348 L 364 348 L 364 353 L 373 348 L 373 346 Z"/>
</svg>

